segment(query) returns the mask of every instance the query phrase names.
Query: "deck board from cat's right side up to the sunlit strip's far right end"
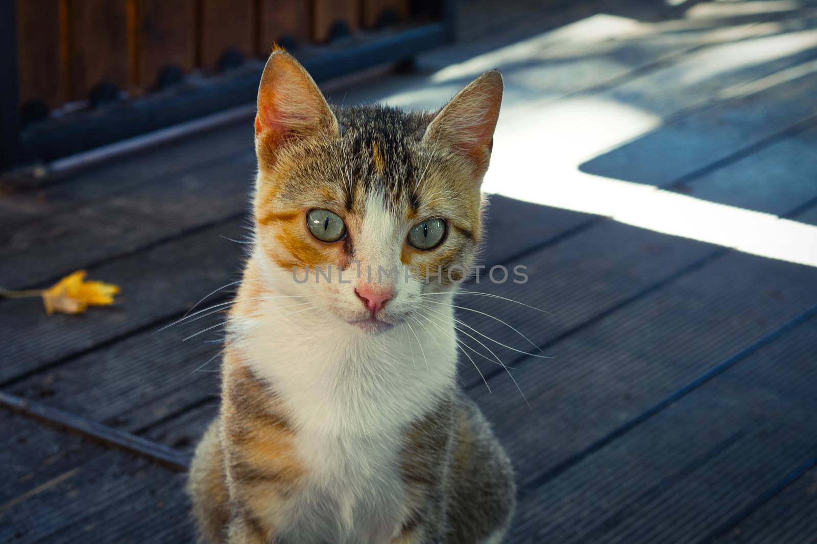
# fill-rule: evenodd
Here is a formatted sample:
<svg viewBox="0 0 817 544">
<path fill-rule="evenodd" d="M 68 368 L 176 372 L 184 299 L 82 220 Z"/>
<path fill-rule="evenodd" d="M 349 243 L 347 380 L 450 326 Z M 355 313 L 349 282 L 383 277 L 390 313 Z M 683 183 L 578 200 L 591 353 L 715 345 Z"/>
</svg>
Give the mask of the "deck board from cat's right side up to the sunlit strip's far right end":
<svg viewBox="0 0 817 544">
<path fill-rule="evenodd" d="M 493 380 L 493 395 L 484 386 L 471 392 L 501 422 L 498 434 L 527 489 L 810 310 L 815 278 L 815 268 L 724 254 L 553 345 L 547 352 L 556 359 L 516 363 L 530 407 L 507 377 Z"/>
</svg>

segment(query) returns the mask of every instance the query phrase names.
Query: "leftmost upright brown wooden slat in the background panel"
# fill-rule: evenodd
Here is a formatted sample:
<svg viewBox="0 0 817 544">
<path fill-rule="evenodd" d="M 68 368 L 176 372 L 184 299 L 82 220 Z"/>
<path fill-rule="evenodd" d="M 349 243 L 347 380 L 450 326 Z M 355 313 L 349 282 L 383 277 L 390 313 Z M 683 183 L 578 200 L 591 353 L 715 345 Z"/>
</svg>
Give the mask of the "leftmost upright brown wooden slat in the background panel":
<svg viewBox="0 0 817 544">
<path fill-rule="evenodd" d="M 16 2 L 20 104 L 42 100 L 49 108 L 65 100 L 64 29 L 58 0 Z"/>
</svg>

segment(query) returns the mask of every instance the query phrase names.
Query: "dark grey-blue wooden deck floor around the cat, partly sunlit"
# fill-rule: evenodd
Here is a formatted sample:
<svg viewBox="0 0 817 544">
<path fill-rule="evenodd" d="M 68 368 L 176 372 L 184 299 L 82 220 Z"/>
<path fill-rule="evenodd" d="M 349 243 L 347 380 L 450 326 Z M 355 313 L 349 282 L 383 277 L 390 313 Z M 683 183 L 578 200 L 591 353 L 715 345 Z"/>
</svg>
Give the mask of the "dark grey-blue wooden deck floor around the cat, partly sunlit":
<svg viewBox="0 0 817 544">
<path fill-rule="evenodd" d="M 508 542 L 815 544 L 817 268 L 605 215 L 641 184 L 817 228 L 817 5 L 534 3 L 466 2 L 479 39 L 330 93 L 434 107 L 505 73 L 483 261 L 529 282 L 470 289 L 553 315 L 458 300 L 480 333 L 531 348 L 490 314 L 554 357 L 494 349 L 527 403 L 462 365 L 516 466 Z M 219 315 L 156 331 L 239 272 L 251 126 L 5 188 L 0 285 L 87 268 L 123 296 L 79 317 L 0 300 L 0 541 L 192 542 L 183 472 L 217 409 L 219 332 L 181 340 Z M 779 243 L 814 257 L 808 240 Z"/>
</svg>

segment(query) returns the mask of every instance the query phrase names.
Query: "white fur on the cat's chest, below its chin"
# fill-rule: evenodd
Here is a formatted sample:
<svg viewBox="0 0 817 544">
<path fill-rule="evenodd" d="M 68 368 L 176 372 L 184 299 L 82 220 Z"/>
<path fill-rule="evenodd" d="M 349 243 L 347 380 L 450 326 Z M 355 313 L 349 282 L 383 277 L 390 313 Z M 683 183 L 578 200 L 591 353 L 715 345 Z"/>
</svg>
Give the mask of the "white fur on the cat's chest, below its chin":
<svg viewBox="0 0 817 544">
<path fill-rule="evenodd" d="M 398 325 L 372 336 L 269 310 L 273 317 L 236 321 L 232 330 L 291 414 L 307 474 L 287 511 L 270 514 L 292 542 L 389 542 L 407 513 L 400 480 L 407 428 L 455 379 L 453 322 L 440 327 L 450 335 Z"/>
</svg>

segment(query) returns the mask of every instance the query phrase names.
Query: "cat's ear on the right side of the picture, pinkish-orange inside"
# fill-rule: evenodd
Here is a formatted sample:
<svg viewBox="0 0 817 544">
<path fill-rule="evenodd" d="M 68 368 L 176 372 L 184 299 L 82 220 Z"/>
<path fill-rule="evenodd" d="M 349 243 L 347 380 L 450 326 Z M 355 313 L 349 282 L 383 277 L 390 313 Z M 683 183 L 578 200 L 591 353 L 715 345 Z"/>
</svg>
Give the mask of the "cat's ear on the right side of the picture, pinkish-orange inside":
<svg viewBox="0 0 817 544">
<path fill-rule="evenodd" d="M 426 128 L 422 143 L 431 148 L 449 148 L 465 158 L 481 180 L 491 158 L 502 89 L 498 70 L 477 77 L 440 110 Z"/>
</svg>

